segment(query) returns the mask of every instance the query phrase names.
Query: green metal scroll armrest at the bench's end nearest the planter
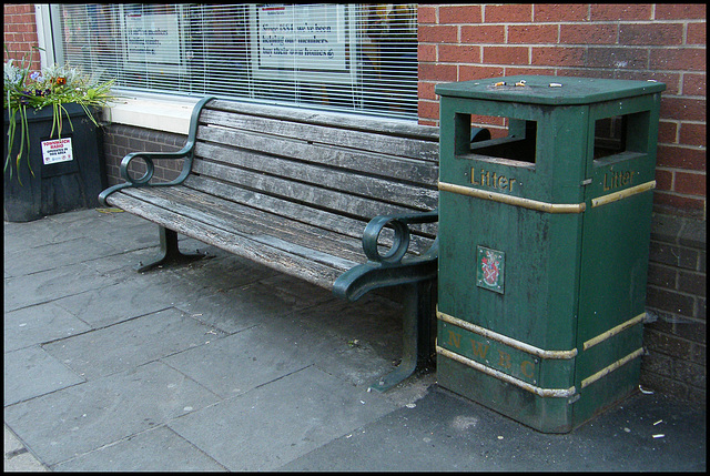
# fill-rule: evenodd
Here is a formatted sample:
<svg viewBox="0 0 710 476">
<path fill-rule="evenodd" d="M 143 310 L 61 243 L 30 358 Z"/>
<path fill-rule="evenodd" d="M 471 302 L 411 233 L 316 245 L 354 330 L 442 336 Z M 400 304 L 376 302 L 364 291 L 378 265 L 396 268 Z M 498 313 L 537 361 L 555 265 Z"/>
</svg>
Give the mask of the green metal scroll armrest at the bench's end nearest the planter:
<svg viewBox="0 0 710 476">
<path fill-rule="evenodd" d="M 197 119 L 200 117 L 200 113 L 202 112 L 202 108 L 204 107 L 204 104 L 211 101 L 212 99 L 214 99 L 214 97 L 203 98 L 193 108 L 192 115 L 190 118 L 190 131 L 187 133 L 187 142 L 181 150 L 176 152 L 131 152 L 130 154 L 126 154 L 121 161 L 121 169 L 120 169 L 121 176 L 123 178 L 123 180 L 125 180 L 125 182 L 120 183 L 118 185 L 110 186 L 103 192 L 101 192 L 99 194 L 99 203 L 101 203 L 103 206 L 108 206 L 105 199 L 111 193 L 115 192 L 116 190 L 125 189 L 129 186 L 169 186 L 169 185 L 178 185 L 182 183 L 187 178 L 187 175 L 190 174 L 190 171 L 192 170 L 192 158 L 194 153 L 195 141 L 197 138 L 197 125 L 199 125 Z M 133 160 L 139 158 L 142 159 L 143 162 L 145 163 L 146 170 L 142 176 L 134 179 L 129 173 L 129 165 Z M 160 160 L 160 159 L 168 159 L 168 160 L 184 159 L 185 161 L 182 165 L 182 171 L 180 172 L 180 175 L 178 175 L 175 180 L 172 180 L 170 182 L 150 183 L 155 172 L 155 165 L 153 163 L 153 160 Z"/>
</svg>

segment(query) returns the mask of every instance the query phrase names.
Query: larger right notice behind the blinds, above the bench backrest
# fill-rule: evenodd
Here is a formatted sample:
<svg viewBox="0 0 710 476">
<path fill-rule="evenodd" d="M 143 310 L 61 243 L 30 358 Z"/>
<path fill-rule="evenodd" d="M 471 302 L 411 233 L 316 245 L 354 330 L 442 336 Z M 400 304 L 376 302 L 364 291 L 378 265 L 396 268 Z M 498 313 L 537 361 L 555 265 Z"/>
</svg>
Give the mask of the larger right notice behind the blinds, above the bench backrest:
<svg viewBox="0 0 710 476">
<path fill-rule="evenodd" d="M 347 72 L 344 4 L 257 8 L 258 68 Z"/>
</svg>

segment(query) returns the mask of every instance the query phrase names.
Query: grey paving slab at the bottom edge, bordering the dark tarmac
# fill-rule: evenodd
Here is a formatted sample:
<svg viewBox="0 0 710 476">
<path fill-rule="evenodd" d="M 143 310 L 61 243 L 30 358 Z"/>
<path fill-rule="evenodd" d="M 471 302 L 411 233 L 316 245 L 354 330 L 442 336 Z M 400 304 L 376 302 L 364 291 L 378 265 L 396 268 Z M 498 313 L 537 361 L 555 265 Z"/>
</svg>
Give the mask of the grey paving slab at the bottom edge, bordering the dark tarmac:
<svg viewBox="0 0 710 476">
<path fill-rule="evenodd" d="M 231 472 L 273 470 L 393 409 L 307 367 L 169 426 Z"/>
</svg>

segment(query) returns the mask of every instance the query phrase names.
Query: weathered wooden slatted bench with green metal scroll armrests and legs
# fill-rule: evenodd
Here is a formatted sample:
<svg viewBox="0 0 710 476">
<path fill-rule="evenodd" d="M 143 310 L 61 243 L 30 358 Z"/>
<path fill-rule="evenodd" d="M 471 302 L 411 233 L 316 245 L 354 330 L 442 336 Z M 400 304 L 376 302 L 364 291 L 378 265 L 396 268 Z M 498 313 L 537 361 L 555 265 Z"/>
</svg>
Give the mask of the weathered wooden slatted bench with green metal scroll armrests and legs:
<svg viewBox="0 0 710 476">
<path fill-rule="evenodd" d="M 183 160 L 178 179 L 153 180 L 156 160 Z M 139 164 L 145 173 L 133 176 Z M 140 271 L 194 257 L 179 251 L 181 233 L 349 301 L 403 285 L 402 363 L 372 387 L 396 385 L 428 357 L 436 128 L 205 98 L 181 151 L 130 153 L 121 174 L 101 204 L 160 230 L 161 255 Z"/>
</svg>

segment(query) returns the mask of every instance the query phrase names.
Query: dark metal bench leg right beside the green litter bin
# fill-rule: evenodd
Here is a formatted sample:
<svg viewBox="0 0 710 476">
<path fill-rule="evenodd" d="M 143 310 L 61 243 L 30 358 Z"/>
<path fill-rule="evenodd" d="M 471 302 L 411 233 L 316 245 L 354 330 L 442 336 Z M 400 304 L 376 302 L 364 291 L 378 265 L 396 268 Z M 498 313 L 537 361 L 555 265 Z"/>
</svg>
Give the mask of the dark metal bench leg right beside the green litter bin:
<svg viewBox="0 0 710 476">
<path fill-rule="evenodd" d="M 419 364 L 428 358 L 432 316 L 432 282 L 405 285 L 402 362 L 396 371 L 371 385 L 372 389 L 386 392 L 409 377 Z"/>
</svg>

